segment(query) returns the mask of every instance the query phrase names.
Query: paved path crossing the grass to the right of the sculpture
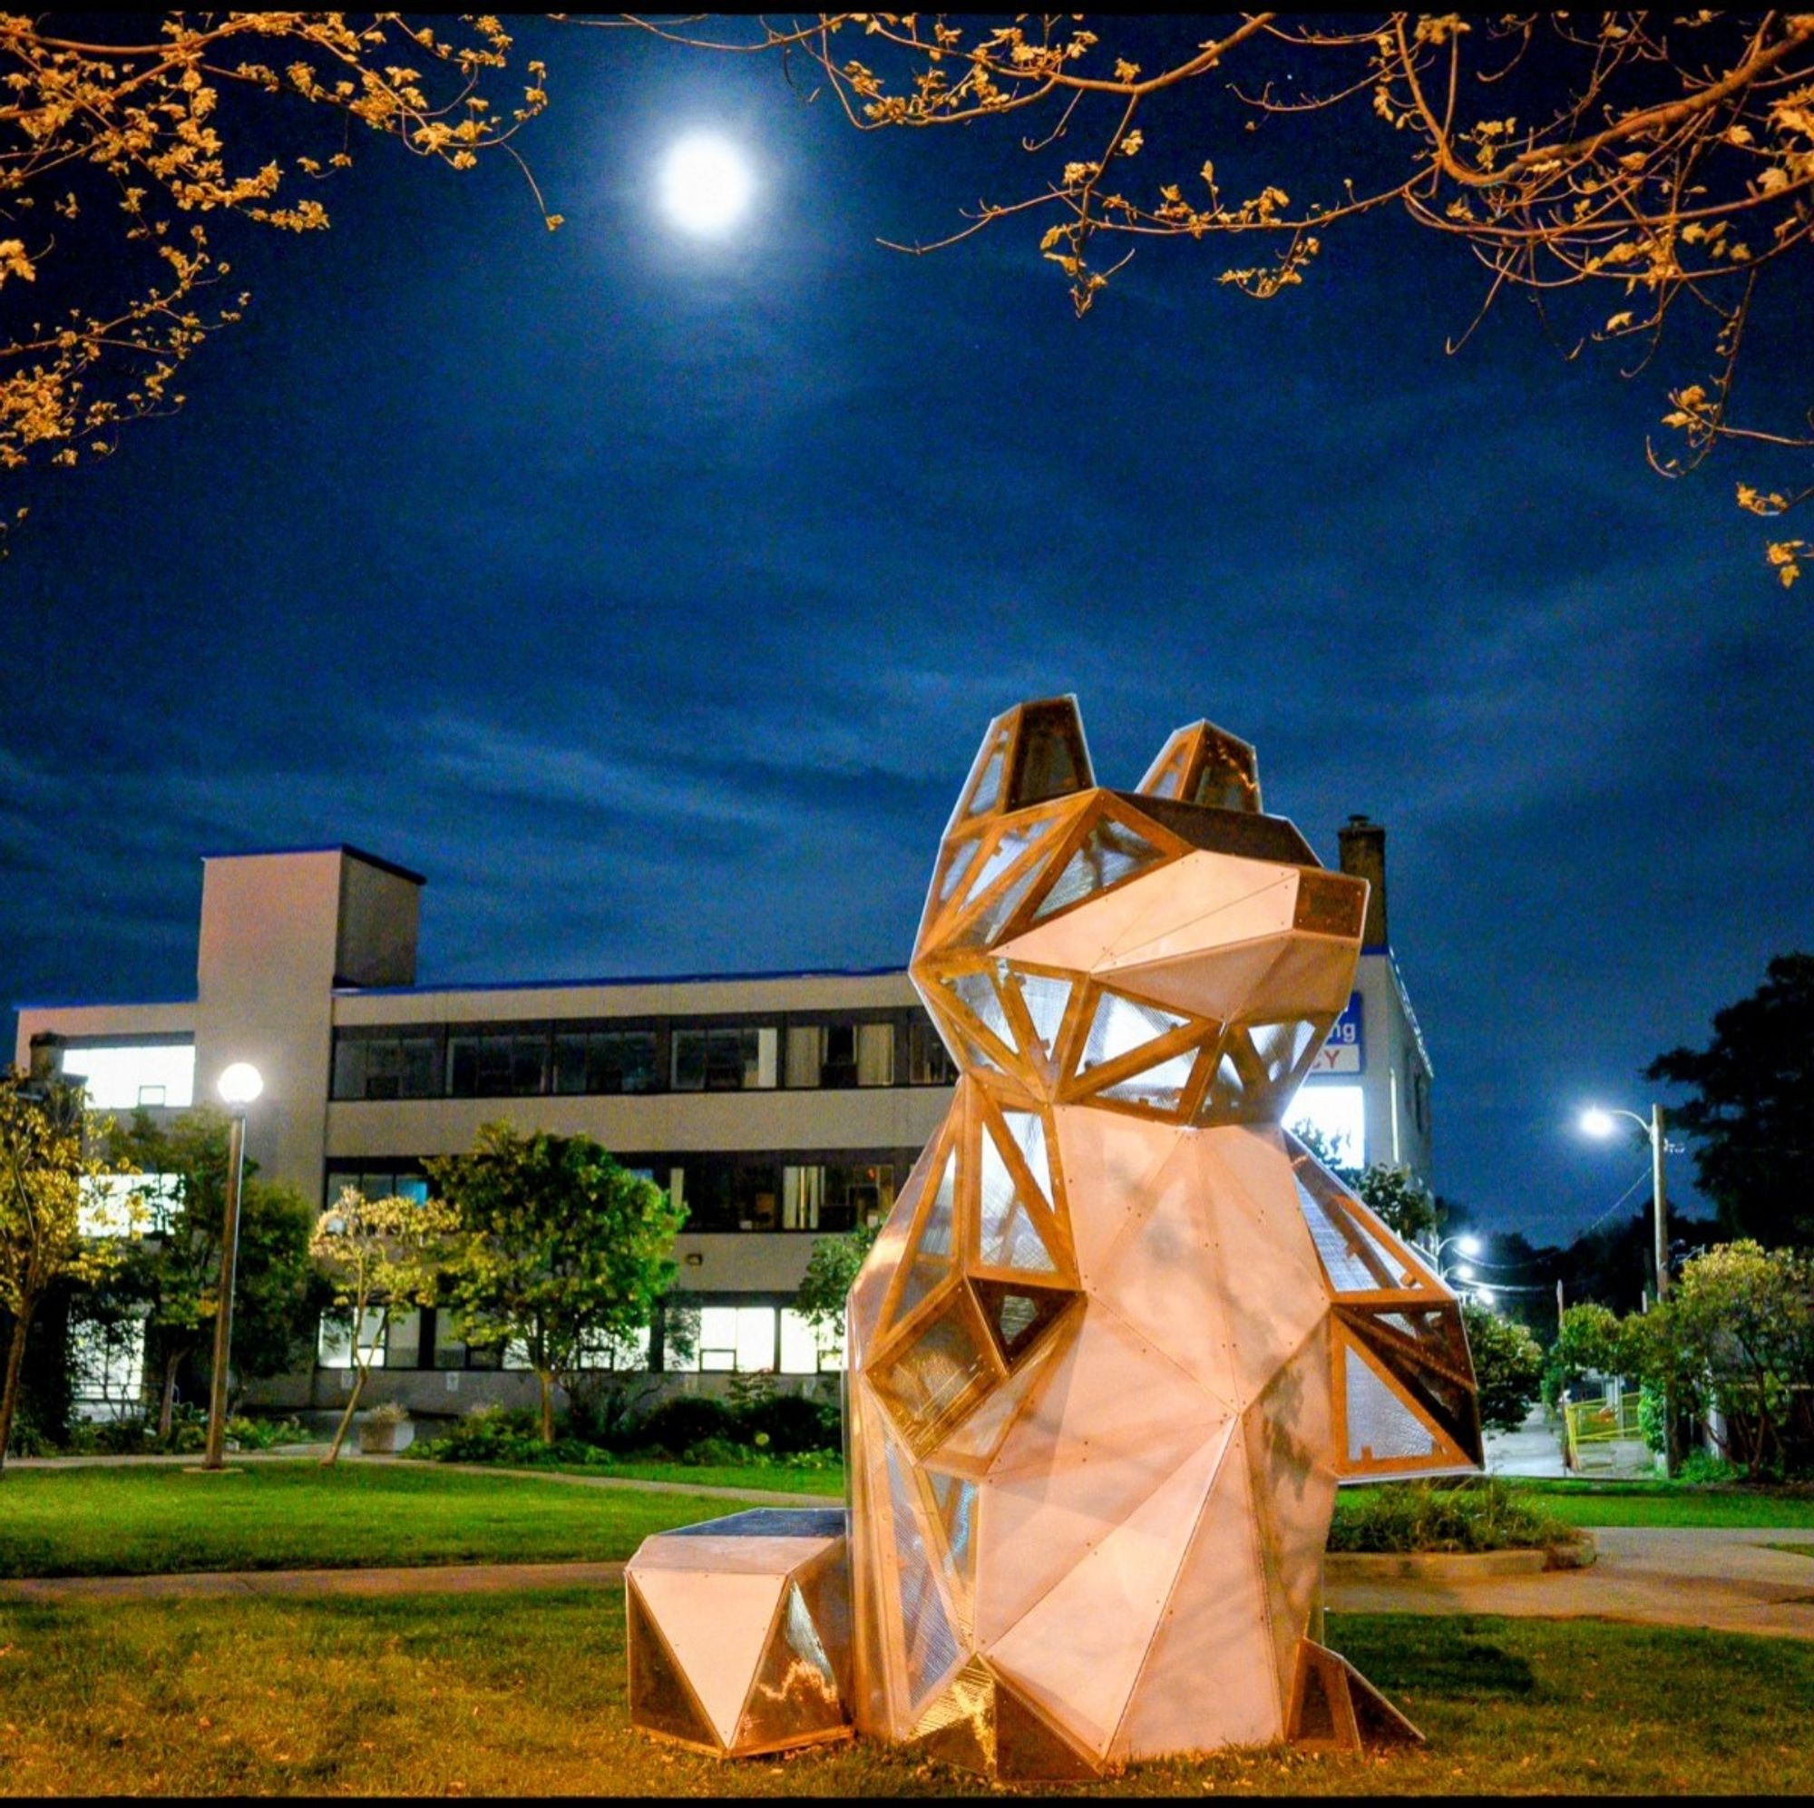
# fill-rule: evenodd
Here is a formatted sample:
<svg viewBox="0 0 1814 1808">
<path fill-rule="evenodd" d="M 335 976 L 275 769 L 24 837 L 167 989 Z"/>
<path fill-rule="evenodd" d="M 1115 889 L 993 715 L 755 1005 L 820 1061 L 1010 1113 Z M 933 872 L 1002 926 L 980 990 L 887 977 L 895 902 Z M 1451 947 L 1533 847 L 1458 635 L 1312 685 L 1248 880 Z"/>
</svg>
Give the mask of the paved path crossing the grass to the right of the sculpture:
<svg viewBox="0 0 1814 1808">
<path fill-rule="evenodd" d="M 1342 1614 L 1624 1619 L 1814 1639 L 1814 1530 L 1596 1527 L 1585 1570 L 1451 1581 L 1331 1583 Z M 1772 1547 L 1792 1548 L 1772 1548 Z"/>
</svg>

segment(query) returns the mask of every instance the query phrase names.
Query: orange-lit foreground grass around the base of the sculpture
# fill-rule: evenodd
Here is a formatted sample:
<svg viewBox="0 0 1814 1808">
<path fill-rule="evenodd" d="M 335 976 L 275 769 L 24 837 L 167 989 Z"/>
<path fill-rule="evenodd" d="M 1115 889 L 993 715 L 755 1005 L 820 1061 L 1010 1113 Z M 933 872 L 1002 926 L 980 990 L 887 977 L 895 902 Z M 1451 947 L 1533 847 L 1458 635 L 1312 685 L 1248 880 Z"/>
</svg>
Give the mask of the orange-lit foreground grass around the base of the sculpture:
<svg viewBox="0 0 1814 1808">
<path fill-rule="evenodd" d="M 1333 1614 L 1330 1637 L 1424 1750 L 1166 1761 L 1083 1793 L 1814 1790 L 1809 1645 Z M 619 1588 L 0 1607 L 0 1777 L 9 1793 L 987 1793 L 867 1743 L 720 1764 L 642 1739 Z"/>
</svg>

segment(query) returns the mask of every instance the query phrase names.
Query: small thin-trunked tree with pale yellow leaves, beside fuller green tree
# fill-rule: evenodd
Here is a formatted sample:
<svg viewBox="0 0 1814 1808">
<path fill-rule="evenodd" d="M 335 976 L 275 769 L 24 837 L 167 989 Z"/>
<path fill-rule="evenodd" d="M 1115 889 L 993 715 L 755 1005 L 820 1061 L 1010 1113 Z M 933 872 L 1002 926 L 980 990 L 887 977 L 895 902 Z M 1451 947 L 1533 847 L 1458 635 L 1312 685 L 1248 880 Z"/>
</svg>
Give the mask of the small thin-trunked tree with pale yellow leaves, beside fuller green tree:
<svg viewBox="0 0 1814 1808">
<path fill-rule="evenodd" d="M 316 1222 L 308 1251 L 327 1272 L 334 1303 L 352 1320 L 354 1369 L 346 1410 L 334 1427 L 323 1465 L 339 1459 L 392 1312 L 434 1303 L 435 1280 L 454 1254 L 457 1227 L 455 1213 L 439 1200 L 368 1200 L 357 1187 L 341 1187 L 339 1200 Z"/>
</svg>

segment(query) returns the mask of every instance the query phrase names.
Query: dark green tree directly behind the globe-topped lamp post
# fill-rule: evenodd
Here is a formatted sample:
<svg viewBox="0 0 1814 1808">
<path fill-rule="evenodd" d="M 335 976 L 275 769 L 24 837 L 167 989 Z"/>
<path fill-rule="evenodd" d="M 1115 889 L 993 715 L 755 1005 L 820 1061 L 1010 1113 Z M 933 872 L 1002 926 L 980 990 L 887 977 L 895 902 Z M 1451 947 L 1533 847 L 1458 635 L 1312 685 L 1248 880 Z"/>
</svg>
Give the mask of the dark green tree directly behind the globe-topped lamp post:
<svg viewBox="0 0 1814 1808">
<path fill-rule="evenodd" d="M 147 1367 L 158 1376 L 158 1436 L 167 1438 L 176 1381 L 209 1349 L 219 1309 L 221 1223 L 227 1213 L 225 1111 L 198 1107 L 163 1127 L 138 1111 L 111 1144 L 111 1160 L 140 1176 L 145 1236 L 107 1283 L 109 1309 L 143 1312 Z M 245 1164 L 234 1274 L 234 1369 L 283 1374 L 314 1338 L 325 1303 L 308 1254 L 312 1213 L 301 1193 L 258 1178 Z"/>
</svg>

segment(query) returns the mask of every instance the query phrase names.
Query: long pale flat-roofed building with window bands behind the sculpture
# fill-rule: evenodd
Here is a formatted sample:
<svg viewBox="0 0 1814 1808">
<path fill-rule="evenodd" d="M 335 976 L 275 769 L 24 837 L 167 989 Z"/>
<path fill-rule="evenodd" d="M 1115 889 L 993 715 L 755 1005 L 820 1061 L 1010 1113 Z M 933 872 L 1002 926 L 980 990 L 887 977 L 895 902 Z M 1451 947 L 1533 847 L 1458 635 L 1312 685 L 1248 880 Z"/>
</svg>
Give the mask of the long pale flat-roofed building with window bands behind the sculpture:
<svg viewBox="0 0 1814 1808">
<path fill-rule="evenodd" d="M 1428 1173 L 1429 1066 L 1386 946 L 1384 830 L 1342 830 L 1342 868 L 1373 882 L 1368 946 L 1299 1115 L 1351 1160 Z M 116 1115 L 210 1100 L 249 1060 L 265 1080 L 249 1156 L 323 1204 L 346 1184 L 426 1196 L 423 1158 L 470 1149 L 490 1118 L 593 1136 L 688 1205 L 669 1312 L 695 1347 L 682 1361 L 664 1320 L 642 1360 L 816 1372 L 827 1358 L 791 1311 L 813 1240 L 889 1211 L 952 1096 L 907 973 L 417 986 L 423 884 L 345 846 L 209 857 L 196 997 L 22 1006 L 16 1060 L 83 1078 Z M 345 1331 L 325 1327 L 319 1358 L 252 1398 L 337 1405 Z M 383 1363 L 377 1398 L 415 1410 L 533 1392 L 434 1311 L 390 1329 Z"/>
</svg>

